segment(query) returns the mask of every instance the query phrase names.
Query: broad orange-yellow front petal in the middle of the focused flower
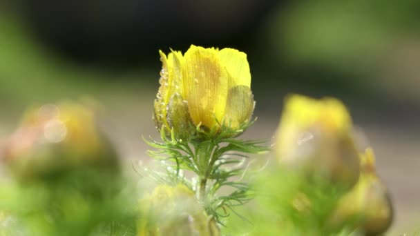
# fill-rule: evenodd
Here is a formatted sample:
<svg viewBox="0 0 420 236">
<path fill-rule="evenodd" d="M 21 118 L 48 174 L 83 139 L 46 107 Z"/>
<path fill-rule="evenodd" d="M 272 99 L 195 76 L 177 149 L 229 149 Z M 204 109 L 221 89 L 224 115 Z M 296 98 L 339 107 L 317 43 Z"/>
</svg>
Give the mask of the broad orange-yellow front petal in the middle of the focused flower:
<svg viewBox="0 0 420 236">
<path fill-rule="evenodd" d="M 218 50 L 191 46 L 184 55 L 182 97 L 188 101 L 195 125 L 217 126 L 225 114 L 227 70 L 220 66 Z M 215 119 L 216 118 L 216 119 Z"/>
</svg>

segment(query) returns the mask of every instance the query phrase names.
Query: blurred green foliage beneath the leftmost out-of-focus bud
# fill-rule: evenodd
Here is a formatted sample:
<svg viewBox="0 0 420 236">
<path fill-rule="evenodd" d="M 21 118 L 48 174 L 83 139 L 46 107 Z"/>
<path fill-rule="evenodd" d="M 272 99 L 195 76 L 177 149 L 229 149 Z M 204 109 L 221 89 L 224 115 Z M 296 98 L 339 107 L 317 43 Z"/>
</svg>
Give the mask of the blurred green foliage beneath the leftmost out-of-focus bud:
<svg viewBox="0 0 420 236">
<path fill-rule="evenodd" d="M 2 181 L 0 235 L 135 235 L 137 194 L 129 183 L 91 168 L 30 183 Z"/>
</svg>

